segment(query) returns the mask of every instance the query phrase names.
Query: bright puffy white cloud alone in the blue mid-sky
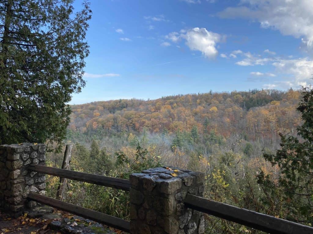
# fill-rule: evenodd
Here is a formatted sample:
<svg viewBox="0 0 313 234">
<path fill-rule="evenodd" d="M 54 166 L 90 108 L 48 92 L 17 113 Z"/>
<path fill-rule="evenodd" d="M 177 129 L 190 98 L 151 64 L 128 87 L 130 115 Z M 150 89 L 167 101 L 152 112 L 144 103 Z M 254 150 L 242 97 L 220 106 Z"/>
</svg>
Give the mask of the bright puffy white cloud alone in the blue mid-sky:
<svg viewBox="0 0 313 234">
<path fill-rule="evenodd" d="M 221 35 L 218 33 L 196 27 L 181 34 L 180 37 L 186 40 L 186 45 L 191 50 L 201 51 L 207 58 L 214 58 L 218 55 L 216 43 L 221 40 Z"/>
</svg>

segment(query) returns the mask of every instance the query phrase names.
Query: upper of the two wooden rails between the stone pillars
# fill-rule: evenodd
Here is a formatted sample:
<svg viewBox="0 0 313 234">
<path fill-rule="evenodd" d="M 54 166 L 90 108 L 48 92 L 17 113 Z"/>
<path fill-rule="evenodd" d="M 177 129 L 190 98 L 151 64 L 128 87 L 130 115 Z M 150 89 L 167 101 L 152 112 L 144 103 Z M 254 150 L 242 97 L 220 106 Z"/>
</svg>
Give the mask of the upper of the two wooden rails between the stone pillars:
<svg viewBox="0 0 313 234">
<path fill-rule="evenodd" d="M 94 175 L 84 172 L 76 172 L 65 169 L 46 167 L 36 164 L 30 164 L 29 170 L 35 172 L 58 176 L 67 179 L 78 180 L 86 183 L 98 184 L 106 187 L 117 188 L 125 191 L 129 191 L 131 183 L 126 179 L 113 178 L 108 176 Z"/>
</svg>

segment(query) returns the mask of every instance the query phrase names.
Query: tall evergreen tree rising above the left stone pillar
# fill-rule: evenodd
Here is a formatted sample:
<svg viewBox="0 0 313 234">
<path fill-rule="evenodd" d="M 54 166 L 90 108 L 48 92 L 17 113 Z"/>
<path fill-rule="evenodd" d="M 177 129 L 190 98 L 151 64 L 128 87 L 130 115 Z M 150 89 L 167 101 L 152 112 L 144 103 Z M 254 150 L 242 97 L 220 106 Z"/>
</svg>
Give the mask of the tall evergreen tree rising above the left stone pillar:
<svg viewBox="0 0 313 234">
<path fill-rule="evenodd" d="M 57 142 L 66 135 L 71 95 L 80 92 L 89 3 L 0 1 L 0 144 Z"/>
</svg>

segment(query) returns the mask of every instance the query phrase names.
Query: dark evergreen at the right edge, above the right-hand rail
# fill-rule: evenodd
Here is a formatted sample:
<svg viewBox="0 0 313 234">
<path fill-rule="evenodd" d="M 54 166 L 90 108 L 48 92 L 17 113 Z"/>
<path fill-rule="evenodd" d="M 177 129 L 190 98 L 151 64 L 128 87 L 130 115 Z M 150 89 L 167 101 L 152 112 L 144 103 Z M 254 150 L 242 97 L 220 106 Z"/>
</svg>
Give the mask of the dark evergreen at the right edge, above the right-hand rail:
<svg viewBox="0 0 313 234">
<path fill-rule="evenodd" d="M 303 97 L 297 110 L 303 124 L 297 128 L 299 138 L 281 134 L 281 148 L 276 154 L 264 153 L 272 165 L 278 165 L 278 181 L 261 172 L 258 183 L 262 186 L 269 207 L 281 207 L 284 218 L 313 222 L 313 88 L 303 87 Z M 278 199 L 279 198 L 279 199 Z M 273 202 L 274 201 L 274 202 Z M 277 204 L 280 204 L 277 206 Z M 274 203 L 274 204 L 273 204 Z"/>
</svg>

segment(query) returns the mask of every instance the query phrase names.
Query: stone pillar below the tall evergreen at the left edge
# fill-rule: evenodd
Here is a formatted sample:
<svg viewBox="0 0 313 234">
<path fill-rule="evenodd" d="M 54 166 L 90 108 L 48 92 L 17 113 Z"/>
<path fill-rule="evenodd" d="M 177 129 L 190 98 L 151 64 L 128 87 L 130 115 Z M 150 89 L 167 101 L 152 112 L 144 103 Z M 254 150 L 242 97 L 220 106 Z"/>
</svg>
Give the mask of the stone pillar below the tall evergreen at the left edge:
<svg viewBox="0 0 313 234">
<path fill-rule="evenodd" d="M 29 192 L 45 194 L 45 175 L 28 171 L 29 164 L 44 165 L 44 144 L 0 145 L 0 208 L 19 216 L 26 207 L 36 206 L 27 201 Z"/>
</svg>

